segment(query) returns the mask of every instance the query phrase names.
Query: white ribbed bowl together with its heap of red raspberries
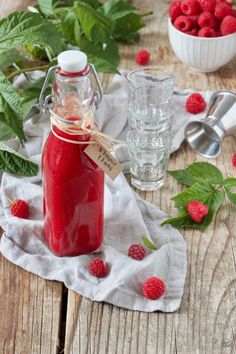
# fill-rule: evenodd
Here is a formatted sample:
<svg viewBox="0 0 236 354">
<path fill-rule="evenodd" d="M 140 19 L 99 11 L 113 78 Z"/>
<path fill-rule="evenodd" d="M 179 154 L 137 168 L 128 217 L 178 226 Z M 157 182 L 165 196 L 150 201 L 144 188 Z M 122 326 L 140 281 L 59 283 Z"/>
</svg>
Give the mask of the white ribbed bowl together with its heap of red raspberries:
<svg viewBox="0 0 236 354">
<path fill-rule="evenodd" d="M 231 0 L 173 0 L 169 40 L 176 56 L 199 72 L 213 72 L 236 54 L 236 8 Z"/>
</svg>

